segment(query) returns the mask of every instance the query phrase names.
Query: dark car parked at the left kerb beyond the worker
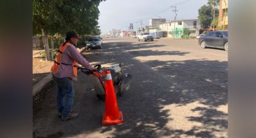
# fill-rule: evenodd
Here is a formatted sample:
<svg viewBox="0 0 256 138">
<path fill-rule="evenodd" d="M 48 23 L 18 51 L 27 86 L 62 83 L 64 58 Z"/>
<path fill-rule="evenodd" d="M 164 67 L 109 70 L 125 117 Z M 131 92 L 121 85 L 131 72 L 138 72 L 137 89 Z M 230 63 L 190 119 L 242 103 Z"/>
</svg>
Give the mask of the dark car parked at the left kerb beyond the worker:
<svg viewBox="0 0 256 138">
<path fill-rule="evenodd" d="M 86 42 L 86 49 L 102 49 L 102 38 L 90 37 Z"/>
</svg>

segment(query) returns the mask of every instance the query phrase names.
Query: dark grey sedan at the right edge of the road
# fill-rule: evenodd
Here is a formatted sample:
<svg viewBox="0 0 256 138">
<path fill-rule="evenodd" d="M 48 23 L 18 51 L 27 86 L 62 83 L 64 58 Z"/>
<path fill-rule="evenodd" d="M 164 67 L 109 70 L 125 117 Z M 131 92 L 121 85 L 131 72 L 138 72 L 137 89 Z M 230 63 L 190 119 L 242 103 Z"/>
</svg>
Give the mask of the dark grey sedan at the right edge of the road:
<svg viewBox="0 0 256 138">
<path fill-rule="evenodd" d="M 198 44 L 205 49 L 206 47 L 216 47 L 228 50 L 228 31 L 211 31 L 202 35 L 198 39 Z"/>
</svg>

